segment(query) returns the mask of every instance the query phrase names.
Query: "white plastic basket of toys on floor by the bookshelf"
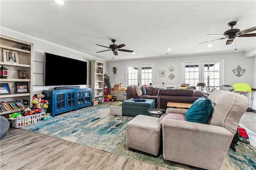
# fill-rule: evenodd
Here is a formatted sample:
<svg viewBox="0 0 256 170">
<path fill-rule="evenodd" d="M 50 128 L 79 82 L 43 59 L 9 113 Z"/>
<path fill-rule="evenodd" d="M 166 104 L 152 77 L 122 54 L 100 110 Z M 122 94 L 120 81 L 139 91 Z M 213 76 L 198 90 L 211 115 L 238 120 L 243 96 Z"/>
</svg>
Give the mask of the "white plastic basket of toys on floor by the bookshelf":
<svg viewBox="0 0 256 170">
<path fill-rule="evenodd" d="M 12 127 L 20 128 L 20 127 L 25 127 L 35 123 L 39 123 L 41 121 L 41 114 L 42 113 L 38 113 L 31 116 L 25 116 L 25 117 L 13 119 Z"/>
</svg>

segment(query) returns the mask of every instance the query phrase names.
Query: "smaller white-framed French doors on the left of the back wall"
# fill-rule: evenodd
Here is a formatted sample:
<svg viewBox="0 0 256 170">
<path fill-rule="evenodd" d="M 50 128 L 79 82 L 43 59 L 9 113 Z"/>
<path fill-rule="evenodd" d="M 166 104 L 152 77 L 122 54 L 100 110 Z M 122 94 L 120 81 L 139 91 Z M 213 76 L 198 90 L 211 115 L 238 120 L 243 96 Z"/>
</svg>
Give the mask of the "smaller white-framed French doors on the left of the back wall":
<svg viewBox="0 0 256 170">
<path fill-rule="evenodd" d="M 126 65 L 126 84 L 152 85 L 154 64 Z"/>
</svg>

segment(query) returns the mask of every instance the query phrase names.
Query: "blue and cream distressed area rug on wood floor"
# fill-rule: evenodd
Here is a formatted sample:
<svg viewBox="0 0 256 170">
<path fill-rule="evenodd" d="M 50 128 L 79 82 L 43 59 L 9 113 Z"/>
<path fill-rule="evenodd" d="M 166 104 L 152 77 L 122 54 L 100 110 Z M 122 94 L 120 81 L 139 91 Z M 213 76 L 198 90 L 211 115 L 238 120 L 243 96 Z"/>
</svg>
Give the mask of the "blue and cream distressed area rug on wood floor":
<svg viewBox="0 0 256 170">
<path fill-rule="evenodd" d="M 52 119 L 22 127 L 26 130 L 68 140 L 172 170 L 191 169 L 138 150 L 126 150 L 126 125 L 133 117 L 110 115 L 109 105 L 96 105 L 57 115 Z M 238 142 L 236 152 L 229 149 L 222 170 L 256 169 L 256 148 Z"/>
</svg>

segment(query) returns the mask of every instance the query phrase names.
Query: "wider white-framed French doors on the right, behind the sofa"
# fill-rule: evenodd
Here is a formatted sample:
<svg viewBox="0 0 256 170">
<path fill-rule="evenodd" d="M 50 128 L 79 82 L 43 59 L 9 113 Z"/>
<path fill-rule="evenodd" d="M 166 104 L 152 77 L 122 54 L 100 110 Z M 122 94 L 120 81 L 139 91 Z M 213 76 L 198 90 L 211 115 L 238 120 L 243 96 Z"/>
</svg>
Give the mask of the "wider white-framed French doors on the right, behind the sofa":
<svg viewBox="0 0 256 170">
<path fill-rule="evenodd" d="M 182 62 L 182 80 L 184 83 L 196 86 L 205 83 L 206 91 L 218 89 L 224 83 L 224 59 L 207 61 Z M 201 90 L 199 87 L 196 87 Z"/>
</svg>

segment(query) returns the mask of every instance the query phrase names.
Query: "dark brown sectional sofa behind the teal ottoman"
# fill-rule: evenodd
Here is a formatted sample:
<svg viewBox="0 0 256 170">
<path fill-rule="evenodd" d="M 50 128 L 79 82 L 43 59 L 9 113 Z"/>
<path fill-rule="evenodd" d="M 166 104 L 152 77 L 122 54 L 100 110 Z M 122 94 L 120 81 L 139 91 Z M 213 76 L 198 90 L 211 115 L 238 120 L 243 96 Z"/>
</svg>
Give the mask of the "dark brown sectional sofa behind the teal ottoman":
<svg viewBox="0 0 256 170">
<path fill-rule="evenodd" d="M 147 86 L 145 87 L 146 95 L 138 96 L 135 85 L 130 85 L 127 87 L 126 94 L 127 99 L 154 99 L 155 108 L 166 109 L 168 102 L 193 103 L 199 97 L 208 97 L 202 91 L 195 89 L 196 88 L 194 86 L 190 86 L 188 89 L 160 89 L 157 87 Z"/>
</svg>

